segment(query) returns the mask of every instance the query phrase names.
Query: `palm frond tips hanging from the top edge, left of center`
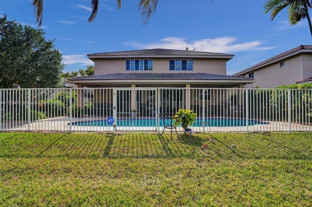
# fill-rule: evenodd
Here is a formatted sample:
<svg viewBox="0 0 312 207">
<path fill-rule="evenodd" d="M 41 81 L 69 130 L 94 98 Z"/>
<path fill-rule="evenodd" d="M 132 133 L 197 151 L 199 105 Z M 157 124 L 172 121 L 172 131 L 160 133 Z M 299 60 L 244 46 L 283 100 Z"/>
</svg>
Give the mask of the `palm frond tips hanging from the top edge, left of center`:
<svg viewBox="0 0 312 207">
<path fill-rule="evenodd" d="M 37 17 L 37 22 L 39 24 L 39 27 L 42 23 L 42 17 L 43 17 L 43 0 L 32 0 L 33 6 L 35 10 L 35 14 Z M 213 2 L 213 0 L 210 0 L 210 2 Z M 98 14 L 98 3 L 99 0 L 91 0 L 92 5 L 92 12 L 89 17 L 89 22 L 93 22 Z M 138 11 L 141 12 L 141 18 L 143 19 L 143 24 L 147 24 L 149 18 L 154 15 L 156 11 L 158 0 L 138 0 Z M 117 8 L 121 9 L 121 0 L 117 0 Z"/>
</svg>

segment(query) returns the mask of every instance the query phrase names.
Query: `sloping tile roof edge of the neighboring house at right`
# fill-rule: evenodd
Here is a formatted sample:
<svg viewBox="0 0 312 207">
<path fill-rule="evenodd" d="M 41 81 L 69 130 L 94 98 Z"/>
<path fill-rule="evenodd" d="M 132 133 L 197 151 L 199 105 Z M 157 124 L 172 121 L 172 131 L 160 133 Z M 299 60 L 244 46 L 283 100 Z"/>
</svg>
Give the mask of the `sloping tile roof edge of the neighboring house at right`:
<svg viewBox="0 0 312 207">
<path fill-rule="evenodd" d="M 234 75 L 241 75 L 241 74 L 244 74 L 247 71 L 252 71 L 252 70 L 254 70 L 254 69 L 256 69 L 256 68 L 258 68 L 258 67 L 260 67 L 262 65 L 268 64 L 270 62 L 274 62 L 275 60 L 277 60 L 279 58 L 285 57 L 287 55 L 290 55 L 292 53 L 298 52 L 300 50 L 311 50 L 312 51 L 312 45 L 300 45 L 300 46 L 298 46 L 296 48 L 293 48 L 293 49 L 291 49 L 289 51 L 283 52 L 283 53 L 281 53 L 279 55 L 276 55 L 276 56 L 274 56 L 274 57 L 272 57 L 270 59 L 267 59 L 267 60 L 265 60 L 265 61 L 263 61 L 261 63 L 258 63 L 258 64 L 254 65 L 254 66 L 252 66 L 252 67 L 250 67 L 248 69 L 244 69 L 242 71 L 236 72 Z"/>
</svg>

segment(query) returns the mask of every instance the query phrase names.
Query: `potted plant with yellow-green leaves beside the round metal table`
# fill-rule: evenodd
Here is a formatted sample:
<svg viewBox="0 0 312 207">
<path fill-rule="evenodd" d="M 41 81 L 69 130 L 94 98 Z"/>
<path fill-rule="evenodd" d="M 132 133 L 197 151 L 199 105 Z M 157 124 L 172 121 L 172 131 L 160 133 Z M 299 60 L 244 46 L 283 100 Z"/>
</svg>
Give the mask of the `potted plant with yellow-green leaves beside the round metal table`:
<svg viewBox="0 0 312 207">
<path fill-rule="evenodd" d="M 176 113 L 176 117 L 179 117 L 179 115 L 183 115 L 183 117 L 177 118 L 175 125 L 178 126 L 181 123 L 184 129 L 184 133 L 187 135 L 191 135 L 192 129 L 190 129 L 188 126 L 192 126 L 193 122 L 196 121 L 196 114 L 189 109 L 179 109 Z"/>
</svg>

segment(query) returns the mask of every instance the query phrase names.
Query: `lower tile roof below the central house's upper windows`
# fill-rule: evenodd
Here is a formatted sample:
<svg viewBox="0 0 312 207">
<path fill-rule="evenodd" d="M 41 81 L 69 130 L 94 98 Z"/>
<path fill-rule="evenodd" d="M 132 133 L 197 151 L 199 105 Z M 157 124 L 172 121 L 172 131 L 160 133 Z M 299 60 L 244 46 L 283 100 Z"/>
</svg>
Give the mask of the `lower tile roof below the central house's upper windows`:
<svg viewBox="0 0 312 207">
<path fill-rule="evenodd" d="M 114 73 L 90 75 L 71 78 L 71 81 L 82 80 L 246 80 L 252 78 L 233 75 L 217 75 L 208 73 Z"/>
</svg>

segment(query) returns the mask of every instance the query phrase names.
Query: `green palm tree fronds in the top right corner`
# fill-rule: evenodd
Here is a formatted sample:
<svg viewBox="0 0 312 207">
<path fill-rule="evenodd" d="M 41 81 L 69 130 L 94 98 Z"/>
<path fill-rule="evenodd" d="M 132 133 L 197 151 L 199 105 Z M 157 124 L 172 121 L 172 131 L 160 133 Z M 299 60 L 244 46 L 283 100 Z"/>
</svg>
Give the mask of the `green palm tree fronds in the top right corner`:
<svg viewBox="0 0 312 207">
<path fill-rule="evenodd" d="M 268 0 L 263 6 L 265 14 L 271 11 L 271 21 L 286 7 L 289 7 L 288 17 L 291 25 L 297 24 L 301 19 L 308 19 L 312 36 L 312 24 L 309 16 L 309 9 L 312 8 L 312 2 L 309 0 Z"/>
</svg>

